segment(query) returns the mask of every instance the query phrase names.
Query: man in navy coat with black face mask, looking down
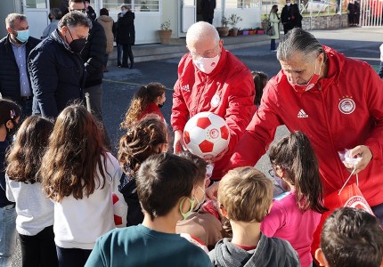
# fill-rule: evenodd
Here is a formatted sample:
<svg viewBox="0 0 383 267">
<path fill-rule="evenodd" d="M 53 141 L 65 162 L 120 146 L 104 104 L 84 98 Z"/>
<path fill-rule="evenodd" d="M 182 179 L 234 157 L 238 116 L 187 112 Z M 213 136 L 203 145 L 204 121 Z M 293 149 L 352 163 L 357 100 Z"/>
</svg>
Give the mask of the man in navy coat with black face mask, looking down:
<svg viewBox="0 0 383 267">
<path fill-rule="evenodd" d="M 57 117 L 73 101 L 82 101 L 86 79 L 79 54 L 86 45 L 92 22 L 81 12 L 69 12 L 58 28 L 29 54 L 34 114 Z"/>
</svg>

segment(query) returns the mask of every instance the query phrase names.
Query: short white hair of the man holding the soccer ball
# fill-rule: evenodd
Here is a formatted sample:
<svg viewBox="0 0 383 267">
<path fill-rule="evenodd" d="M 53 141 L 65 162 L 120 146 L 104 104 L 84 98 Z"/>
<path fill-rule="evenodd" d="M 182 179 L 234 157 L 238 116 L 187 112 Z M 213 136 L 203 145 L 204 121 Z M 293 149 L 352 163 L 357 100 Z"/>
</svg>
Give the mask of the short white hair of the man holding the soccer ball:
<svg viewBox="0 0 383 267">
<path fill-rule="evenodd" d="M 208 22 L 199 21 L 194 23 L 186 33 L 186 44 L 192 40 L 212 39 L 216 44 L 219 43 L 219 35 L 216 28 Z"/>
</svg>

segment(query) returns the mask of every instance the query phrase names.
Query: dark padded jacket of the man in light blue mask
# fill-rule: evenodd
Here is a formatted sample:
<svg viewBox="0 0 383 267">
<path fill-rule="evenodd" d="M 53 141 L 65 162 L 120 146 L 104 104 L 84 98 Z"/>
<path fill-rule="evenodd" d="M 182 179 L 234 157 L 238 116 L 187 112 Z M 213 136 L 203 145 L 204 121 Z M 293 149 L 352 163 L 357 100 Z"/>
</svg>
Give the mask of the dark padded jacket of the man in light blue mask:
<svg viewBox="0 0 383 267">
<path fill-rule="evenodd" d="M 10 35 L 0 40 L 0 93 L 4 98 L 20 103 L 20 71 L 14 57 Z M 26 45 L 26 59 L 40 40 L 29 37 Z M 27 62 L 26 62 L 27 63 Z M 29 79 L 30 85 L 30 79 Z M 30 87 L 32 89 L 32 87 Z"/>
</svg>

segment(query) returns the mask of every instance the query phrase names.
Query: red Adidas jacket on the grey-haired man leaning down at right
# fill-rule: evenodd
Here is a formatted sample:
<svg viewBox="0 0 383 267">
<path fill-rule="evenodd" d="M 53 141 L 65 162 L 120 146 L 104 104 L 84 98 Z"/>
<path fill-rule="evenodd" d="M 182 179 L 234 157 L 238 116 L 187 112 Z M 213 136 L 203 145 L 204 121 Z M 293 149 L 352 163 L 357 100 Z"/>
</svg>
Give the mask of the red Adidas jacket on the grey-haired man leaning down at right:
<svg viewBox="0 0 383 267">
<path fill-rule="evenodd" d="M 326 194 L 339 190 L 350 174 L 338 151 L 368 146 L 372 159 L 359 174 L 359 187 L 371 206 L 379 205 L 383 202 L 383 81 L 366 62 L 323 47 L 328 77 L 305 93 L 297 93 L 282 70 L 273 77 L 232 155 L 230 168 L 254 166 L 273 141 L 276 127 L 286 125 L 312 142 Z"/>
</svg>

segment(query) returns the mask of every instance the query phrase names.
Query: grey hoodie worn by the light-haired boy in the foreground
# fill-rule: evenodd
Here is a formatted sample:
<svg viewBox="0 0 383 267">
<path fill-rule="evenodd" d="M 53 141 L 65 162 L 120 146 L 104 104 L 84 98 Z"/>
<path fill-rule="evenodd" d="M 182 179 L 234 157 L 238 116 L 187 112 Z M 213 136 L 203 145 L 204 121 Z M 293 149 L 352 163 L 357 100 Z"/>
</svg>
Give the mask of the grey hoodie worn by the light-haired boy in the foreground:
<svg viewBox="0 0 383 267">
<path fill-rule="evenodd" d="M 229 239 L 221 239 L 208 256 L 216 267 L 300 266 L 297 251 L 288 241 L 268 238 L 262 233 L 256 250 L 246 251 L 232 245 Z"/>
</svg>

